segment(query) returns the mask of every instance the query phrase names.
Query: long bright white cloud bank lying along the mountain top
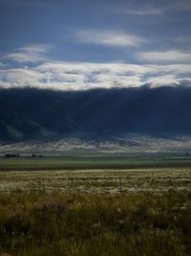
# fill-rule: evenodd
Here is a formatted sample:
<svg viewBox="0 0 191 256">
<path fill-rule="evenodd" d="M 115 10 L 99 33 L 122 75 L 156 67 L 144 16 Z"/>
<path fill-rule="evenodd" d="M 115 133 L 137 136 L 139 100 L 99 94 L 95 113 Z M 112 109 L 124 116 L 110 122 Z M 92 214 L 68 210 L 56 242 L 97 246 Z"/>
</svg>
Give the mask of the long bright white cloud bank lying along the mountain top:
<svg viewBox="0 0 191 256">
<path fill-rule="evenodd" d="M 180 76 L 187 74 L 186 79 Z M 33 67 L 0 70 L 0 87 L 59 90 L 179 85 L 189 80 L 191 65 L 132 65 L 125 63 L 44 62 Z M 188 82 L 187 82 L 188 83 Z M 189 81 L 190 84 L 190 81 Z"/>
</svg>

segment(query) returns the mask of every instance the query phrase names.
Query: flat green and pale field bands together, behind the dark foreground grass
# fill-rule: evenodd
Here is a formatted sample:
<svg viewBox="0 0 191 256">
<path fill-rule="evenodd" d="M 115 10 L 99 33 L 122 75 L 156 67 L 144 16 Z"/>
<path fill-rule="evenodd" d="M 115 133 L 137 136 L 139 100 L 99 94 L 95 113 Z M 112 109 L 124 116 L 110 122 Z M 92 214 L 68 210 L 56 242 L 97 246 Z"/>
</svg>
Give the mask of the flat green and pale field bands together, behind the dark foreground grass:
<svg viewBox="0 0 191 256">
<path fill-rule="evenodd" d="M 191 157 L 92 154 L 0 158 L 0 192 L 189 190 Z"/>
</svg>

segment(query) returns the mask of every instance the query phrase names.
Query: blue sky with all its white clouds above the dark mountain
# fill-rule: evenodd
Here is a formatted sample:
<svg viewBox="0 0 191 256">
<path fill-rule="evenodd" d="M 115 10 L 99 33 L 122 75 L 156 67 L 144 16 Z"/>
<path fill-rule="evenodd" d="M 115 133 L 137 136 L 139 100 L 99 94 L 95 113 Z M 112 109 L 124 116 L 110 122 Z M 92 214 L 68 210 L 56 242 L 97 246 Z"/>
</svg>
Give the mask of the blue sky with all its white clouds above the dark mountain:
<svg viewBox="0 0 191 256">
<path fill-rule="evenodd" d="M 0 0 L 0 88 L 191 85 L 191 0 Z"/>
</svg>

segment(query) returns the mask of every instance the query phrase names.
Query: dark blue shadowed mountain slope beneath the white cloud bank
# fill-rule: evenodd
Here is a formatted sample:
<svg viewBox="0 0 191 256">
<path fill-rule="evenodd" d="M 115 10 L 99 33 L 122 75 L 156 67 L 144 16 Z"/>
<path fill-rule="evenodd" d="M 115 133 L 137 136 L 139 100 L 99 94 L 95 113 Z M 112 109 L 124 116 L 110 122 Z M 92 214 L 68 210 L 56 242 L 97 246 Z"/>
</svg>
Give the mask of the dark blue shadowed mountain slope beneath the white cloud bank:
<svg viewBox="0 0 191 256">
<path fill-rule="evenodd" d="M 191 133 L 191 88 L 0 90 L 0 140 L 86 134 Z"/>
</svg>

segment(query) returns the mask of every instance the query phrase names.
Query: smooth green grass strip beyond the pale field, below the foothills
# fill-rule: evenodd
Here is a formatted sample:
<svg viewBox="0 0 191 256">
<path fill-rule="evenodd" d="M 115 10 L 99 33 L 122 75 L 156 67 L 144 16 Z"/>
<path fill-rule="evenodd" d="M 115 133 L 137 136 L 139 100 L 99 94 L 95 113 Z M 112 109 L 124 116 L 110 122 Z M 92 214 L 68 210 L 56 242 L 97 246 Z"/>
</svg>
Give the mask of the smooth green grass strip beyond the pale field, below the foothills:
<svg viewBox="0 0 191 256">
<path fill-rule="evenodd" d="M 191 167 L 191 156 L 181 155 L 63 155 L 47 157 L 0 158 L 0 171 L 138 169 Z"/>
</svg>

